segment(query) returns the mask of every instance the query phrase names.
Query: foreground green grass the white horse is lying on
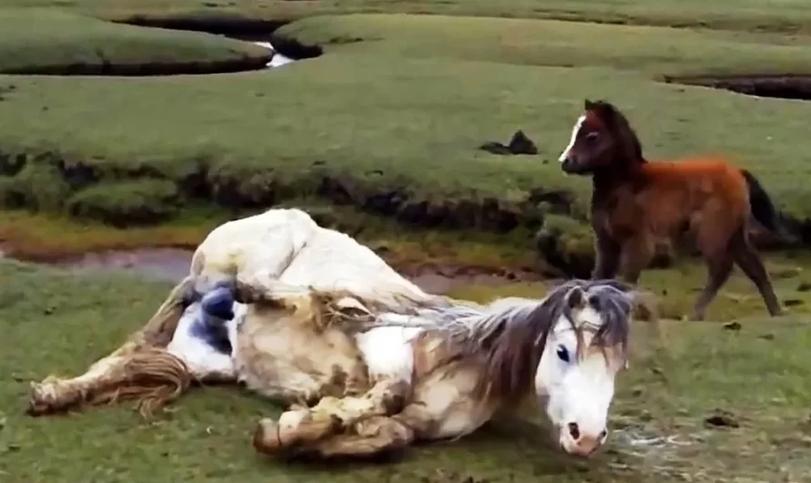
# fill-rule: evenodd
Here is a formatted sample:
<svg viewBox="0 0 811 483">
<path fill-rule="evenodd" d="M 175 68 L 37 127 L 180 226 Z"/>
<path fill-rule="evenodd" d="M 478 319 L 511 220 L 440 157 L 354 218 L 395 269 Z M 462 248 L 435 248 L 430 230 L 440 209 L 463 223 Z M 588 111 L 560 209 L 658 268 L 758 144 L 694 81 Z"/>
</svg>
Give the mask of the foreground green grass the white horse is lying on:
<svg viewBox="0 0 811 483">
<path fill-rule="evenodd" d="M 24 416 L 28 380 L 84 370 L 143 324 L 169 287 L 16 262 L 0 263 L 0 278 L 4 481 L 721 483 L 800 481 L 811 464 L 811 325 L 797 319 L 751 316 L 739 332 L 713 323 L 636 324 L 631 370 L 621 375 L 611 412 L 611 447 L 590 462 L 560 456 L 532 412 L 456 442 L 415 448 L 392 464 L 319 468 L 255 454 L 253 425 L 278 409 L 236 388 L 196 390 L 152 423 L 130 405 Z M 704 427 L 716 409 L 741 427 Z M 691 444 L 631 447 L 629 435 L 679 435 Z"/>
</svg>

